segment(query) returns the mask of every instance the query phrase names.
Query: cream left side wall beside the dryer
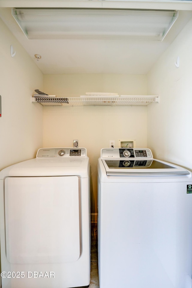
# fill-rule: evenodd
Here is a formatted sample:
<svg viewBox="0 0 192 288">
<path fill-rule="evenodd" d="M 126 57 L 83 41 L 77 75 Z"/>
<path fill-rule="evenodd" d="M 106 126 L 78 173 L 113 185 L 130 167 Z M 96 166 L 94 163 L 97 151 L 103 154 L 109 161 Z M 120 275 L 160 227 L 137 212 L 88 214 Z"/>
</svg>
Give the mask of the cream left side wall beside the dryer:
<svg viewBox="0 0 192 288">
<path fill-rule="evenodd" d="M 31 103 L 43 75 L 0 19 L 0 170 L 35 156 L 42 146 L 42 107 Z M 10 45 L 16 51 L 10 56 Z"/>
</svg>

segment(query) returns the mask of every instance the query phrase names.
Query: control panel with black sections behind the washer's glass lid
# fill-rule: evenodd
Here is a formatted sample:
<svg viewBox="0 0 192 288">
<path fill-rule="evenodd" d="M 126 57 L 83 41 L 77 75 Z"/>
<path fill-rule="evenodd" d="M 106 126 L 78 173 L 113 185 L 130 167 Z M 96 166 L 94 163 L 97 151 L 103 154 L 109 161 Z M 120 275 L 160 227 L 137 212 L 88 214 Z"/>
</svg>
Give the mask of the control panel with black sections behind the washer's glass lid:
<svg viewBox="0 0 192 288">
<path fill-rule="evenodd" d="M 153 158 L 148 148 L 104 148 L 101 149 L 102 158 Z"/>
</svg>

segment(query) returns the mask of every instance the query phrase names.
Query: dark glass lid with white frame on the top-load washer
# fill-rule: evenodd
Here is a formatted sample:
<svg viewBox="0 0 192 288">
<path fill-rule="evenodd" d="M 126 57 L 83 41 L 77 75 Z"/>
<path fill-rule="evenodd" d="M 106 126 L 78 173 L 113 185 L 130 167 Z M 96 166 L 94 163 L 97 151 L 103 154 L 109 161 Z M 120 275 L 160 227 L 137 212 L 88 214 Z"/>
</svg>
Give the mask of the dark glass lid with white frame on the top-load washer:
<svg viewBox="0 0 192 288">
<path fill-rule="evenodd" d="M 181 175 L 186 169 L 156 159 L 101 159 L 107 175 Z"/>
</svg>

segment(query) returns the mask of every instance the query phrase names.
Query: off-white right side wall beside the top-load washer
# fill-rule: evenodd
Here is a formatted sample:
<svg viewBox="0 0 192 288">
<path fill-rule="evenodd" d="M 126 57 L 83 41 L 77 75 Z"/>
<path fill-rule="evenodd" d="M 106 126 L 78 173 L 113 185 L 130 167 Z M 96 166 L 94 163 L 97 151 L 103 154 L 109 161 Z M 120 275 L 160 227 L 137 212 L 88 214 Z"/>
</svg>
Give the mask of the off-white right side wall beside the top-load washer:
<svg viewBox="0 0 192 288">
<path fill-rule="evenodd" d="M 192 169 L 192 20 L 148 74 L 148 93 L 160 103 L 148 106 L 148 147 L 155 157 Z M 180 66 L 175 62 L 180 57 Z"/>
</svg>

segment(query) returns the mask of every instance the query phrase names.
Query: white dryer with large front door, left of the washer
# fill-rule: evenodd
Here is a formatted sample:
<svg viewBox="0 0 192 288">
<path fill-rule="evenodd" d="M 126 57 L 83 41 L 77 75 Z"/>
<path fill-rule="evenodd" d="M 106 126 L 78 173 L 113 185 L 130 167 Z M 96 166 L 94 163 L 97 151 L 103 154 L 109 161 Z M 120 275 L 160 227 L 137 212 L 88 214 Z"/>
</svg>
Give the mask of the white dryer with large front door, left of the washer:
<svg viewBox="0 0 192 288">
<path fill-rule="evenodd" d="M 89 158 L 42 148 L 0 172 L 2 288 L 88 287 Z"/>
</svg>

